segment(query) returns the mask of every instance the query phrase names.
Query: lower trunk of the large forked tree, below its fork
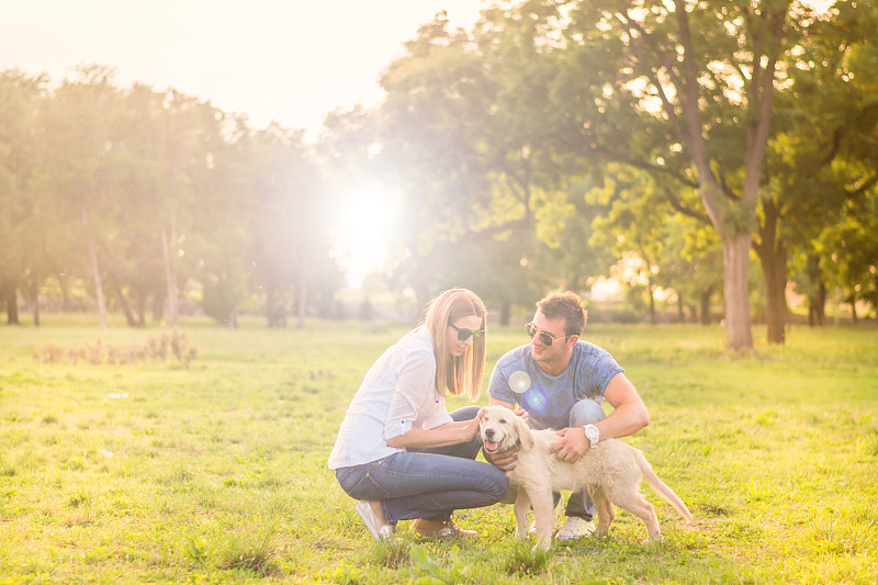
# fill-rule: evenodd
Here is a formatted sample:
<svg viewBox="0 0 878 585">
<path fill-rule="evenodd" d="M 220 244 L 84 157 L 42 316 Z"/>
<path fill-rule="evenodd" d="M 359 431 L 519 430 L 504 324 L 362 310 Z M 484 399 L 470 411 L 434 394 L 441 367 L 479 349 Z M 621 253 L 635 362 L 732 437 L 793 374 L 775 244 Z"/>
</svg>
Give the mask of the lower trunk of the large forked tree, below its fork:
<svg viewBox="0 0 878 585">
<path fill-rule="evenodd" d="M 750 233 L 722 236 L 722 290 L 725 300 L 727 347 L 732 351 L 753 349 L 750 325 Z"/>
</svg>

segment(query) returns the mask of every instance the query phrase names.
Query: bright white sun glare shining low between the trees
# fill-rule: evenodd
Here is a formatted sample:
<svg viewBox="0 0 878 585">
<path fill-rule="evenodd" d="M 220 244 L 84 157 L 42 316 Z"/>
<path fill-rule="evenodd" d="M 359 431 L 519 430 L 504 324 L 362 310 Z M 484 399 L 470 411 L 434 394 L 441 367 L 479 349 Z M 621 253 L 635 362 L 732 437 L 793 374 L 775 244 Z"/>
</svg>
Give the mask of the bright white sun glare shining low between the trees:
<svg viewBox="0 0 878 585">
<path fill-rule="evenodd" d="M 374 184 L 342 199 L 334 256 L 349 286 L 359 289 L 368 274 L 385 268 L 393 209 L 390 193 Z"/>
</svg>

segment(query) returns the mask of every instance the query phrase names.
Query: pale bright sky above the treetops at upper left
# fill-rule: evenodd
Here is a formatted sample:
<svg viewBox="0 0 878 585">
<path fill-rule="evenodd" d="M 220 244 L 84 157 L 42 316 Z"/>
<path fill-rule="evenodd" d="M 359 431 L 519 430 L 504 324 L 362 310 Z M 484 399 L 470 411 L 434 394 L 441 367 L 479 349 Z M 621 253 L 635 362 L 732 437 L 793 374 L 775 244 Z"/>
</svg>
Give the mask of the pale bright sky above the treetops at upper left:
<svg viewBox="0 0 878 585">
<path fill-rule="evenodd" d="M 324 116 L 383 99 L 381 72 L 447 10 L 470 29 L 481 0 L 26 0 L 0 3 L 0 70 L 63 80 L 104 65 L 116 83 L 173 88 L 261 128 L 316 137 Z"/>
</svg>

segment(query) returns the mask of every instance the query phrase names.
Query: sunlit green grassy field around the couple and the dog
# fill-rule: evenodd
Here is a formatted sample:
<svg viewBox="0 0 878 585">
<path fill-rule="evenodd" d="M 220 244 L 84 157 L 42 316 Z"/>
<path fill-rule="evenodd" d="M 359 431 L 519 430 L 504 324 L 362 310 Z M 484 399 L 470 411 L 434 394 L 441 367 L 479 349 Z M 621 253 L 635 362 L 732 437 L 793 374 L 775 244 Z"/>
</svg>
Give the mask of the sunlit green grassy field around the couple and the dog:
<svg viewBox="0 0 878 585">
<path fill-rule="evenodd" d="M 650 407 L 627 441 L 695 522 L 644 485 L 663 542 L 619 511 L 607 538 L 541 555 L 514 540 L 510 506 L 459 513 L 474 542 L 403 526 L 373 543 L 326 469 L 404 326 L 193 320 L 185 367 L 171 331 L 45 324 L 0 330 L 0 583 L 878 582 L 874 328 L 793 328 L 730 357 L 719 328 L 589 326 Z M 492 328 L 488 369 L 526 340 Z"/>
</svg>

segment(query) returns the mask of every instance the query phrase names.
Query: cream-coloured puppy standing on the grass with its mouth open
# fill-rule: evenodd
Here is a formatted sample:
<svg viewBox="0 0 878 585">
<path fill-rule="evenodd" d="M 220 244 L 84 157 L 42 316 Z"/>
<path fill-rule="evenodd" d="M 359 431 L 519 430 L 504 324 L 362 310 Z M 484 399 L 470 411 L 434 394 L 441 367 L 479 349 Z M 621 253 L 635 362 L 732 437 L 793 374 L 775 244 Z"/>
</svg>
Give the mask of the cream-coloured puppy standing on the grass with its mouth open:
<svg viewBox="0 0 878 585">
<path fill-rule="evenodd" d="M 643 453 L 616 439 L 605 439 L 575 463 L 567 463 L 550 452 L 550 447 L 559 440 L 555 431 L 532 430 L 504 406 L 485 409 L 480 436 L 488 452 L 520 447 L 515 469 L 506 472 L 509 483 L 519 486 L 514 508 L 518 539 L 528 536 L 527 514 L 532 506 L 537 545 L 548 549 L 554 529 L 552 492 L 583 488 L 588 490 L 595 503 L 596 536 L 609 530 L 616 517 L 612 507 L 616 504 L 643 520 L 649 540 L 661 539 L 655 511 L 638 491 L 641 475 L 683 517 L 693 519 L 686 504 L 655 475 Z"/>
</svg>

